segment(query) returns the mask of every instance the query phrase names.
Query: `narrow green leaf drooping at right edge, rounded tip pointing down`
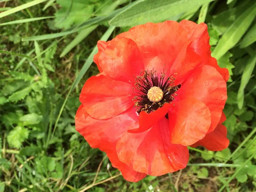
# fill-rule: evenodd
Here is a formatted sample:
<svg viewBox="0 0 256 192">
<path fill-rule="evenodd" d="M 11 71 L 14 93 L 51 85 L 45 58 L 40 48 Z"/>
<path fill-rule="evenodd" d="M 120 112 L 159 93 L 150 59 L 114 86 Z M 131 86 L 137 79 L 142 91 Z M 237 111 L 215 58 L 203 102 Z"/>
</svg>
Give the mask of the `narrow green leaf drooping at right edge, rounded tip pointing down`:
<svg viewBox="0 0 256 192">
<path fill-rule="evenodd" d="M 253 69 L 255 67 L 256 64 L 256 54 L 254 55 L 254 57 L 251 57 L 247 63 L 247 65 L 244 68 L 244 72 L 242 74 L 242 78 L 241 78 L 241 84 L 238 90 L 238 94 L 237 94 L 237 105 L 238 108 L 241 109 L 243 107 L 243 103 L 244 103 L 244 89 L 247 85 L 247 83 L 250 80 L 250 77 L 253 73 Z"/>
</svg>

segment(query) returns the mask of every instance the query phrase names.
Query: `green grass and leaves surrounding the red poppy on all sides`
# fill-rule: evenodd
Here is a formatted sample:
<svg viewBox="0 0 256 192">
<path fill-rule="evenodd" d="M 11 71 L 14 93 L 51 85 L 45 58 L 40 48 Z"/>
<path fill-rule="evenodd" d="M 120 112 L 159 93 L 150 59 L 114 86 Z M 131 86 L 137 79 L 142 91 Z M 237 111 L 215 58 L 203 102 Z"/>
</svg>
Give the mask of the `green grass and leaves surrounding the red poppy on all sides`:
<svg viewBox="0 0 256 192">
<path fill-rule="evenodd" d="M 255 0 L 0 0 L 0 192 L 255 191 L 255 17 Z M 230 146 L 189 148 L 186 169 L 130 183 L 76 132 L 79 93 L 99 39 L 183 19 L 207 23 L 230 71 Z"/>
</svg>

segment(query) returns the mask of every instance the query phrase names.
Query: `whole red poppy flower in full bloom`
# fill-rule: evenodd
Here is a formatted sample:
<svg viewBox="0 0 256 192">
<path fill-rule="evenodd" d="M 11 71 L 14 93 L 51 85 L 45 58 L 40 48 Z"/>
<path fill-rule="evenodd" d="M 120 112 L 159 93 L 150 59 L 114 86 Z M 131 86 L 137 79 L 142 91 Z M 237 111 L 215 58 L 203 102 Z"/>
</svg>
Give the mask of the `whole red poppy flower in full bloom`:
<svg viewBox="0 0 256 192">
<path fill-rule="evenodd" d="M 211 57 L 206 24 L 146 23 L 98 49 L 100 73 L 81 91 L 76 130 L 126 180 L 185 168 L 188 145 L 227 148 L 229 73 Z"/>
</svg>

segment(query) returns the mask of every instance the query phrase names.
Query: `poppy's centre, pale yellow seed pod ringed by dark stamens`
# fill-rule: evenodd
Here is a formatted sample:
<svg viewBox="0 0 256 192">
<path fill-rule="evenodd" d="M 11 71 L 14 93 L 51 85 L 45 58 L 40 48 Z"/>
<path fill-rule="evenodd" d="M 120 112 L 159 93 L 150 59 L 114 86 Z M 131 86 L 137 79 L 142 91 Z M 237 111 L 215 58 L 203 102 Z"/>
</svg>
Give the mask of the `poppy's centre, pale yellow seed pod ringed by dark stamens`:
<svg viewBox="0 0 256 192">
<path fill-rule="evenodd" d="M 137 113 L 145 111 L 151 113 L 166 103 L 171 103 L 181 84 L 175 86 L 172 76 L 165 78 L 165 73 L 157 75 L 157 71 L 142 70 L 140 76 L 135 77 L 134 107 Z"/>
</svg>

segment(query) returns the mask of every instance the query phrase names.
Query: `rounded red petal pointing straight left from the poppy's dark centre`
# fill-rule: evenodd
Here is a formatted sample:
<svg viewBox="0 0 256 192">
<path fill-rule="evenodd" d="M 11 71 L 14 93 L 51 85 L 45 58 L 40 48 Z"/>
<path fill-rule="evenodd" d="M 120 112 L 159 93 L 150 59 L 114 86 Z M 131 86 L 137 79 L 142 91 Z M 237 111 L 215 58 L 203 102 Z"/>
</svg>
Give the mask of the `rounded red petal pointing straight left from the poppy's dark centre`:
<svg viewBox="0 0 256 192">
<path fill-rule="evenodd" d="M 133 107 L 132 85 L 109 76 L 92 76 L 80 94 L 87 113 L 96 119 L 108 119 Z"/>
</svg>

